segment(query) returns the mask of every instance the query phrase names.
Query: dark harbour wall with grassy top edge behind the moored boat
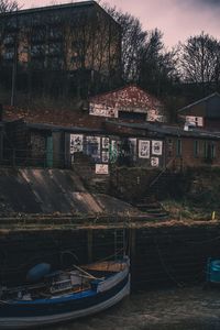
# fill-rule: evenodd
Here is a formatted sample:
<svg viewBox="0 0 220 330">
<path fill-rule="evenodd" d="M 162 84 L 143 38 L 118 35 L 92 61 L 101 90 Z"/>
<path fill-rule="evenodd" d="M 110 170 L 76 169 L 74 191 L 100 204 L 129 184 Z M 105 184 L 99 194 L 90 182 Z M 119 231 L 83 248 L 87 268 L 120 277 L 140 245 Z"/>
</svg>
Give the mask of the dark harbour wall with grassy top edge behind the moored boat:
<svg viewBox="0 0 220 330">
<path fill-rule="evenodd" d="M 53 270 L 119 255 L 131 256 L 132 288 L 204 284 L 208 257 L 220 258 L 217 221 L 80 224 L 65 229 L 0 233 L 1 284 L 24 282 L 30 267 L 48 262 Z"/>
</svg>

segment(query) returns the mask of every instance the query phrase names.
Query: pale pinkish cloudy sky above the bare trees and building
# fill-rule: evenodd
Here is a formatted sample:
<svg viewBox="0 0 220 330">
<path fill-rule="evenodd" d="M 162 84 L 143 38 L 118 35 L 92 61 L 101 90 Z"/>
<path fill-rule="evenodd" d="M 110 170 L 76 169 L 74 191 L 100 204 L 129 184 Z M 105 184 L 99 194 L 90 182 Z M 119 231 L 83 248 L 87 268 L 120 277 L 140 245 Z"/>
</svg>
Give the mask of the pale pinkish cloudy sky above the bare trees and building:
<svg viewBox="0 0 220 330">
<path fill-rule="evenodd" d="M 78 2 L 68 0 L 19 0 L 23 8 L 54 3 Z M 220 40 L 220 0 L 103 0 L 139 18 L 143 29 L 160 29 L 167 48 L 201 31 Z"/>
</svg>

